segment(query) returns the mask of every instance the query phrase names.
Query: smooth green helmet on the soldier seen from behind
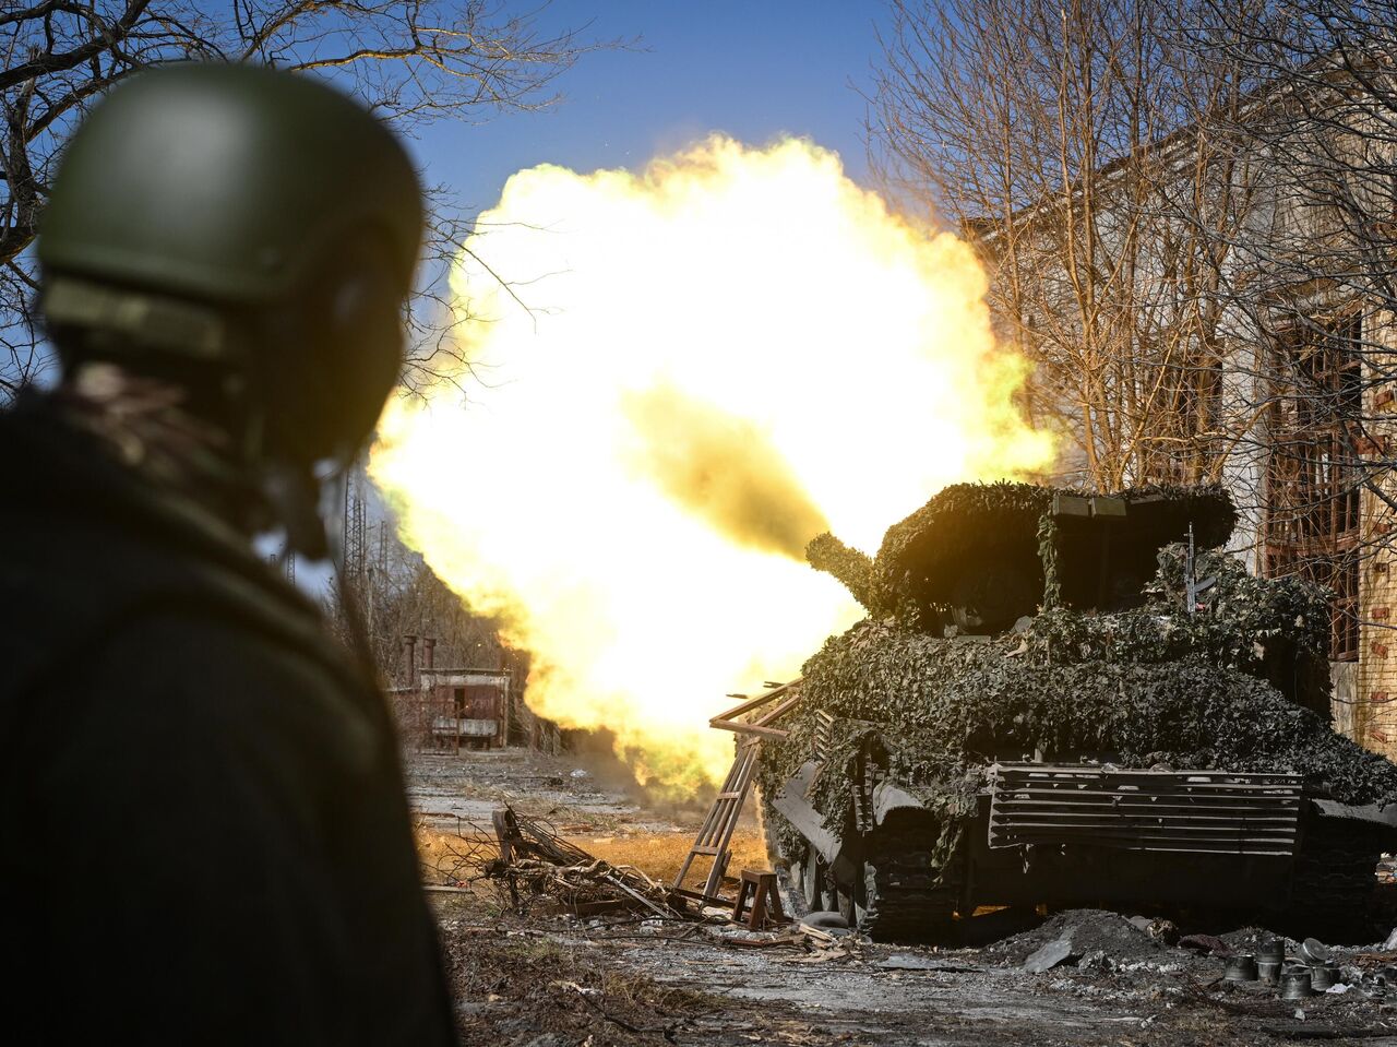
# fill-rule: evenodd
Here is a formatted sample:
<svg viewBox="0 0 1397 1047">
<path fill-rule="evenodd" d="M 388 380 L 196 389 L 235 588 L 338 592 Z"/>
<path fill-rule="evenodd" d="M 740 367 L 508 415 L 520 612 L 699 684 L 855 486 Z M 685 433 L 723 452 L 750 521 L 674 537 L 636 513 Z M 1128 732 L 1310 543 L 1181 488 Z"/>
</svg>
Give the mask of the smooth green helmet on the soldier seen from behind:
<svg viewBox="0 0 1397 1047">
<path fill-rule="evenodd" d="M 271 453 L 309 461 L 358 445 L 397 379 L 422 226 L 412 164 L 356 102 L 267 67 L 165 66 L 68 143 L 41 303 L 66 365 L 75 328 L 145 370 L 239 372 Z"/>
</svg>

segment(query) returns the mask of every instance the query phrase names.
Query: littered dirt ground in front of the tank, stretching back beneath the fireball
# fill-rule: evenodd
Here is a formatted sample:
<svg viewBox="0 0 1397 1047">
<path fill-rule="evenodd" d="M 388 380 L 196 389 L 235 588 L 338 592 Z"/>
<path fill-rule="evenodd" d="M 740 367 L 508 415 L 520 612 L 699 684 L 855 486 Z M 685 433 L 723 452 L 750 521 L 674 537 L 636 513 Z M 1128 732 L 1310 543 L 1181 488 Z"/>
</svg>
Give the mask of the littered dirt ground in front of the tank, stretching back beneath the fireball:
<svg viewBox="0 0 1397 1047">
<path fill-rule="evenodd" d="M 502 804 L 662 882 L 704 811 L 643 808 L 624 781 L 566 756 L 415 755 L 408 777 L 467 1044 L 1397 1046 L 1397 966 L 1391 990 L 1379 977 L 1397 956 L 1375 949 L 1336 955 L 1347 991 L 1284 1002 L 1225 981 L 1222 959 L 1102 911 L 978 917 L 982 945 L 960 949 L 820 945 L 644 911 L 577 917 L 546 899 L 520 914 L 497 882 L 460 876 Z M 767 865 L 754 822 L 735 844 L 732 868 Z M 1239 951 L 1260 934 L 1207 930 Z M 1028 973 L 1025 960 L 1060 941 L 1069 960 Z"/>
</svg>

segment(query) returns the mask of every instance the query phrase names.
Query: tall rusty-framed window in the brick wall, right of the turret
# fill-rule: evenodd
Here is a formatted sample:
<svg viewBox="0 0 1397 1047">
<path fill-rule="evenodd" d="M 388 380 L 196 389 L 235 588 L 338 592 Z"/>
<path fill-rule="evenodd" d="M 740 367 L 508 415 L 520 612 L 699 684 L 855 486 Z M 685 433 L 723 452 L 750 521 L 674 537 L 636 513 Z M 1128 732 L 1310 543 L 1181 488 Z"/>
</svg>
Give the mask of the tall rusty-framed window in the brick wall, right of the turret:
<svg viewBox="0 0 1397 1047">
<path fill-rule="evenodd" d="M 1358 658 L 1361 340 L 1356 312 L 1284 331 L 1268 414 L 1261 570 L 1334 591 L 1334 661 Z"/>
</svg>

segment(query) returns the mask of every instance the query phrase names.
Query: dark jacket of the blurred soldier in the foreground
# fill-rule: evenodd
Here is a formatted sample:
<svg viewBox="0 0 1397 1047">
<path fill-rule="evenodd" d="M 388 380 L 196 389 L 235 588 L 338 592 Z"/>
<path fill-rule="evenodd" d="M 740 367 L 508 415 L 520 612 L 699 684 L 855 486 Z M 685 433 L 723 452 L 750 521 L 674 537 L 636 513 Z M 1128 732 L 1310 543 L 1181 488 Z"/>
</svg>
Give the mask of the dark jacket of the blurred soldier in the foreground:
<svg viewBox="0 0 1397 1047">
<path fill-rule="evenodd" d="M 0 484 L 14 1041 L 450 1043 L 391 723 L 317 608 L 42 407 Z"/>
</svg>

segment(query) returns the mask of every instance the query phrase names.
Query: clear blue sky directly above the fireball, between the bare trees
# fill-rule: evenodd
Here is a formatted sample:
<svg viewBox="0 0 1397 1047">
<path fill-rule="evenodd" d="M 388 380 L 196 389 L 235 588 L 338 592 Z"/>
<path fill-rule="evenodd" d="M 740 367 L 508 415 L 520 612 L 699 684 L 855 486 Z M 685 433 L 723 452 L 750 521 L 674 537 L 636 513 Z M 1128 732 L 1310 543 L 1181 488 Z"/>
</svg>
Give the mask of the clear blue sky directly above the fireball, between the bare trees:
<svg viewBox="0 0 1397 1047">
<path fill-rule="evenodd" d="M 750 144 L 789 133 L 841 154 L 866 175 L 862 124 L 877 57 L 880 0 L 555 0 L 543 25 L 590 27 L 636 49 L 584 55 L 556 81 L 564 99 L 488 123 L 437 123 L 412 144 L 426 178 L 469 210 L 535 164 L 638 168 L 710 131 Z"/>
</svg>

